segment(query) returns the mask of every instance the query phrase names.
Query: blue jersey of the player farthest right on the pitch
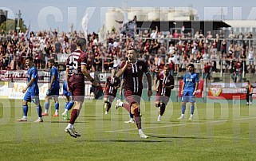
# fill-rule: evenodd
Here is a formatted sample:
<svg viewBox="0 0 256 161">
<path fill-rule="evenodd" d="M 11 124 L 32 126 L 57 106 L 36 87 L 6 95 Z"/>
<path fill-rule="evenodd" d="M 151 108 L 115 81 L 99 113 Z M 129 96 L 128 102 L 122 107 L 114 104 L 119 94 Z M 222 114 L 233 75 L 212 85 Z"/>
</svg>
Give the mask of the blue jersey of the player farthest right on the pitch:
<svg viewBox="0 0 256 161">
<path fill-rule="evenodd" d="M 185 73 L 183 76 L 183 82 L 185 83 L 183 92 L 194 92 L 195 83 L 199 82 L 199 77 L 196 73 Z"/>
</svg>

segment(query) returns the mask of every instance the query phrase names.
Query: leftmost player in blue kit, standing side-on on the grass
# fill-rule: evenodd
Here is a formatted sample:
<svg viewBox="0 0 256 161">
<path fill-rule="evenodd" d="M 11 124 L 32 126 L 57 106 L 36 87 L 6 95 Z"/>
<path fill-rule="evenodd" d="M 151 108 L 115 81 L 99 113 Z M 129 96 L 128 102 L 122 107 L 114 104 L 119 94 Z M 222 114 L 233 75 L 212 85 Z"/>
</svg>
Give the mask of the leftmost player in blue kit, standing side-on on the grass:
<svg viewBox="0 0 256 161">
<path fill-rule="evenodd" d="M 29 68 L 27 72 L 28 77 L 28 84 L 26 85 L 26 88 L 22 90 L 23 93 L 26 92 L 23 100 L 23 117 L 22 119 L 19 119 L 19 122 L 27 121 L 27 114 L 28 114 L 28 102 L 33 101 L 34 104 L 37 105 L 37 114 L 38 119 L 34 122 L 40 123 L 43 122 L 41 117 L 41 105 L 39 100 L 39 88 L 38 88 L 38 75 L 37 75 L 37 69 L 33 66 L 33 58 L 32 57 L 26 57 L 26 66 Z"/>
</svg>

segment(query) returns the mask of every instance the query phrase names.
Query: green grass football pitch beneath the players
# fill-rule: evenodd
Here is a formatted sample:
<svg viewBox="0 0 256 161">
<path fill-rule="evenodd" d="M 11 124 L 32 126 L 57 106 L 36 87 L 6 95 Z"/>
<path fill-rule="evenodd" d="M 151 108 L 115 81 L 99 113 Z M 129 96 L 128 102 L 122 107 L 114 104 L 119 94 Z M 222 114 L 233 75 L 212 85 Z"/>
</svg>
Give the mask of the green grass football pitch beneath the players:
<svg viewBox="0 0 256 161">
<path fill-rule="evenodd" d="M 0 160 L 255 160 L 256 108 L 238 100 L 207 100 L 195 105 L 194 120 L 180 116 L 181 103 L 169 102 L 161 122 L 154 101 L 142 102 L 142 126 L 148 139 L 140 139 L 136 124 L 124 108 L 104 114 L 103 100 L 85 100 L 75 128 L 80 138 L 64 132 L 62 116 L 37 119 L 29 104 L 28 122 L 22 117 L 22 100 L 0 100 Z M 44 102 L 41 101 L 43 106 Z M 43 109 L 44 110 L 44 109 Z M 60 99 L 60 114 L 64 100 Z M 70 112 L 69 112 L 70 114 Z"/>
</svg>

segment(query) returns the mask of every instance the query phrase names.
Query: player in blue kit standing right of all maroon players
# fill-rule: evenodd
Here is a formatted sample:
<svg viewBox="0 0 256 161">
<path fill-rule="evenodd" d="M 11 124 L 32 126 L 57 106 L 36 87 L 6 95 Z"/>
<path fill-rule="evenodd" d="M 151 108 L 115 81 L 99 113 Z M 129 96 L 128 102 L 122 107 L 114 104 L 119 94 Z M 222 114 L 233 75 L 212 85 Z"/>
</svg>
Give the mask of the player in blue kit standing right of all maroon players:
<svg viewBox="0 0 256 161">
<path fill-rule="evenodd" d="M 195 93 L 199 84 L 199 77 L 195 73 L 194 68 L 195 67 L 193 64 L 187 65 L 188 72 L 183 76 L 183 84 L 181 86 L 183 104 L 181 106 L 181 116 L 178 118 L 178 120 L 184 119 L 187 102 L 191 102 L 191 116 L 188 120 L 193 120 L 193 114 L 195 110 Z"/>
</svg>

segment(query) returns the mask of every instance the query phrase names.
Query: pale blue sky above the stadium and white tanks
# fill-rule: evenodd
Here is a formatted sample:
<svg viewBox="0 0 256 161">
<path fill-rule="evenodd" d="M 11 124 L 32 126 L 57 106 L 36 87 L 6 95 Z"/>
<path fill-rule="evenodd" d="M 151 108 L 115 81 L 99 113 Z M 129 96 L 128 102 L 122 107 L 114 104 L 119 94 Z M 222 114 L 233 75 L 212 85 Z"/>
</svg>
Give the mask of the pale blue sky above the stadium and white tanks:
<svg viewBox="0 0 256 161">
<path fill-rule="evenodd" d="M 188 7 L 199 12 L 199 20 L 256 19 L 256 2 L 251 0 L 0 0 L 0 10 L 8 10 L 8 18 L 18 18 L 18 10 L 25 25 L 33 31 L 56 29 L 82 30 L 81 20 L 89 13 L 89 33 L 98 32 L 104 24 L 104 14 L 109 7 Z M 223 10 L 223 12 L 222 12 Z M 223 13 L 223 16 L 221 14 Z"/>
</svg>

